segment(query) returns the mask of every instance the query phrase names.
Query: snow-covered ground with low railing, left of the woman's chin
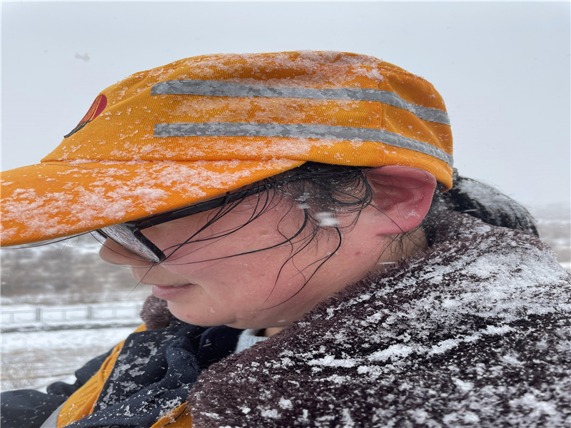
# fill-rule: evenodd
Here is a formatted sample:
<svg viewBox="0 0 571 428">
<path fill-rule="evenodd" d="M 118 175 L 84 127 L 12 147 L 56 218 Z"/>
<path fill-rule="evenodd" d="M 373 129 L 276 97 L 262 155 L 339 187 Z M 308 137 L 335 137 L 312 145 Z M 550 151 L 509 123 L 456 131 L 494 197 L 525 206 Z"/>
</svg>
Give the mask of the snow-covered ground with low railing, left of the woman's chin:
<svg viewBox="0 0 571 428">
<path fill-rule="evenodd" d="M 89 305 L 2 305 L 1 389 L 73 383 L 73 373 L 142 323 L 143 300 Z"/>
</svg>

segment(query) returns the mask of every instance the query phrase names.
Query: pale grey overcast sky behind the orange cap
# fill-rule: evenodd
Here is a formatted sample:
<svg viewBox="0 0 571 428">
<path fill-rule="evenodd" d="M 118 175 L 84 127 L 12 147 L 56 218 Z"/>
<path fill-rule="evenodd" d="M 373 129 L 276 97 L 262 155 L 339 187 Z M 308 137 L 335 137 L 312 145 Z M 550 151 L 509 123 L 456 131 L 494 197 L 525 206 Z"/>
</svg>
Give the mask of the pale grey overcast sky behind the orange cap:
<svg viewBox="0 0 571 428">
<path fill-rule="evenodd" d="M 530 208 L 570 204 L 570 3 L 6 2 L 2 170 L 37 163 L 97 94 L 219 52 L 383 58 L 442 94 L 460 174 Z"/>
</svg>

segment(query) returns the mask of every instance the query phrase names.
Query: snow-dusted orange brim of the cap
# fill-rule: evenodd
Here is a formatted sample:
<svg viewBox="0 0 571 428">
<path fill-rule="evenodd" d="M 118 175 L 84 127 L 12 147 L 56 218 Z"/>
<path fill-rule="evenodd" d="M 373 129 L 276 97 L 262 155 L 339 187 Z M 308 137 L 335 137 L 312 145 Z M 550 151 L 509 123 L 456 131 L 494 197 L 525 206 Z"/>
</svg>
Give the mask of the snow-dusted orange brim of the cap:
<svg viewBox="0 0 571 428">
<path fill-rule="evenodd" d="M 1 245 L 89 232 L 195 203 L 305 161 L 49 162 L 1 173 Z"/>
</svg>

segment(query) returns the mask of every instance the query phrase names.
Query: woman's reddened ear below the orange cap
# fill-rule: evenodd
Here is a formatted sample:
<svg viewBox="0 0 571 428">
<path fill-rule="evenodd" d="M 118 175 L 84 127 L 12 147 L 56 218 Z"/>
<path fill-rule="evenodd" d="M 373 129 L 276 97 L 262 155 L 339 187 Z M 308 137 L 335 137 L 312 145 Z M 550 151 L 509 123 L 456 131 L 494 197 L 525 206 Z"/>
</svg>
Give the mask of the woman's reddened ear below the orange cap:
<svg viewBox="0 0 571 428">
<path fill-rule="evenodd" d="M 387 165 L 369 170 L 375 193 L 373 205 L 380 210 L 376 233 L 394 235 L 418 227 L 424 220 L 436 188 L 434 175 L 417 168 Z"/>
</svg>

